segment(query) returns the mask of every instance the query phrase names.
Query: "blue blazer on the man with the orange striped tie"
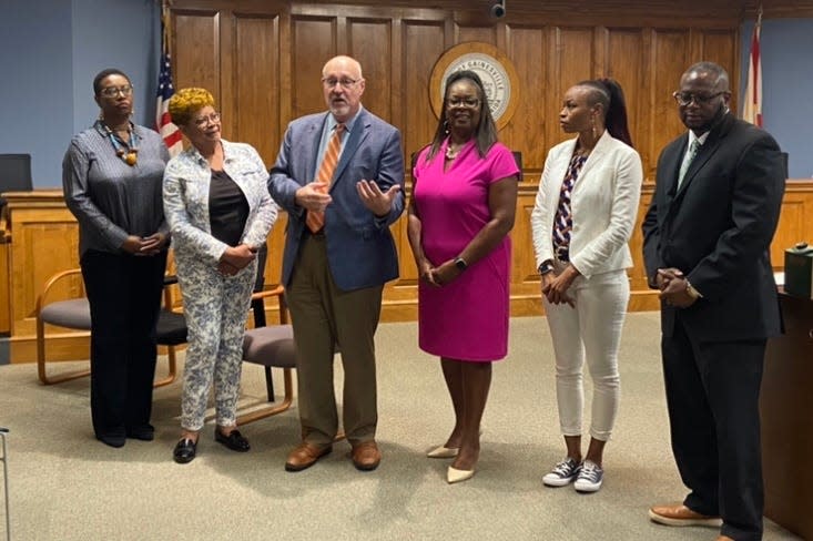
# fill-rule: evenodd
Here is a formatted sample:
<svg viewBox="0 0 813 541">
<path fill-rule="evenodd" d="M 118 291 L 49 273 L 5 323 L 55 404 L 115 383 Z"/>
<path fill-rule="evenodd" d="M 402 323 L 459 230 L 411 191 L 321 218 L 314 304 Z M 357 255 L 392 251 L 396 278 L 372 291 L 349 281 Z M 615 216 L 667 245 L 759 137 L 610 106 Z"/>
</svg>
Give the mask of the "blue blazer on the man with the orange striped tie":
<svg viewBox="0 0 813 541">
<path fill-rule="evenodd" d="M 288 124 L 268 191 L 288 213 L 282 282 L 291 284 L 294 262 L 305 231 L 305 210 L 294 201 L 296 191 L 316 177 L 322 130 L 329 113 L 303 116 Z M 374 180 L 383 192 L 394 184 L 396 195 L 387 216 L 377 218 L 356 192 L 356 183 Z M 333 182 L 333 202 L 325 211 L 327 261 L 339 289 L 352 290 L 384 284 L 398 277 L 398 255 L 389 225 L 404 212 L 404 153 L 400 132 L 360 109 L 347 135 Z"/>
</svg>

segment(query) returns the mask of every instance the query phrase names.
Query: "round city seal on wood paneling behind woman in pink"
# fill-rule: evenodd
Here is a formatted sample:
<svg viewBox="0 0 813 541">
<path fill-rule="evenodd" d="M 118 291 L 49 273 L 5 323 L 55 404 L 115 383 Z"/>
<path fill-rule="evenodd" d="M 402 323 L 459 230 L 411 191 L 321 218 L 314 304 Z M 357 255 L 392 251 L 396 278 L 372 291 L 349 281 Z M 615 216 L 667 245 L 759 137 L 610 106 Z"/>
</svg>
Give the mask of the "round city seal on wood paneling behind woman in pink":
<svg viewBox="0 0 813 541">
<path fill-rule="evenodd" d="M 519 84 L 514 64 L 496 47 L 478 41 L 460 43 L 447 50 L 435 63 L 429 81 L 429 101 L 440 116 L 446 79 L 456 71 L 471 70 L 482 80 L 491 116 L 501 130 L 514 115 Z"/>
</svg>

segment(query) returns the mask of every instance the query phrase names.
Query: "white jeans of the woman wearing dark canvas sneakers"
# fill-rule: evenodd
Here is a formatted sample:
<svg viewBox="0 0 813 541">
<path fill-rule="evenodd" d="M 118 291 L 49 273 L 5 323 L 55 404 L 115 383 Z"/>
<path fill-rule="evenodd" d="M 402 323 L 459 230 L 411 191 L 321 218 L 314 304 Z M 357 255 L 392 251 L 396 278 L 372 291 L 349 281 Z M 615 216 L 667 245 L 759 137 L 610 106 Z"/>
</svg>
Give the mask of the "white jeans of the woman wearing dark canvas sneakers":
<svg viewBox="0 0 813 541">
<path fill-rule="evenodd" d="M 560 270 L 557 268 L 557 270 Z M 610 439 L 621 397 L 618 349 L 630 298 L 627 273 L 579 276 L 568 289 L 576 307 L 552 305 L 542 296 L 556 355 L 556 397 L 562 435 L 581 436 L 585 405 L 582 365 L 593 382 L 590 436 Z"/>
</svg>

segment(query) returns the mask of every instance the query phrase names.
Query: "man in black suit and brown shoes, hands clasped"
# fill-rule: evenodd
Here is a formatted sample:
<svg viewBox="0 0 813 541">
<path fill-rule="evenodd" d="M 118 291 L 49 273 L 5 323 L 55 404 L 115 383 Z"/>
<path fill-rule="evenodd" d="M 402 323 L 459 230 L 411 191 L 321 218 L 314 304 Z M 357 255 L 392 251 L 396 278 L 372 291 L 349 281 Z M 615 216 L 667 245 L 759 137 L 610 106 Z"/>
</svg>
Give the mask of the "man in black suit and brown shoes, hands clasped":
<svg viewBox="0 0 813 541">
<path fill-rule="evenodd" d="M 781 333 L 769 247 L 785 178 L 776 142 L 734 119 L 730 96 L 720 65 L 683 73 L 674 99 L 689 132 L 663 149 L 643 221 L 672 450 L 690 490 L 649 517 L 722 523 L 718 540 L 740 541 L 762 539 L 759 394 L 766 339 Z"/>
</svg>

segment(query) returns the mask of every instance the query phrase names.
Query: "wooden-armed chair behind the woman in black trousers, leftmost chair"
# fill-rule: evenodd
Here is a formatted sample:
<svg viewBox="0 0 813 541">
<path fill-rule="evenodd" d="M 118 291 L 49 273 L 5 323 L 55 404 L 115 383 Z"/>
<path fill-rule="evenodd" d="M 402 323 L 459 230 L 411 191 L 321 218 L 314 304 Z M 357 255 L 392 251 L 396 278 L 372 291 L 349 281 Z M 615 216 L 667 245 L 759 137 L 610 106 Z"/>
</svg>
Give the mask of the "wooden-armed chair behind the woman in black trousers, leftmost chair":
<svg viewBox="0 0 813 541">
<path fill-rule="evenodd" d="M 90 330 L 90 303 L 88 297 L 71 298 L 67 300 L 48 302 L 49 292 L 61 280 L 75 275 L 81 275 L 79 268 L 62 270 L 51 276 L 37 297 L 34 307 L 34 316 L 37 318 L 37 372 L 43 385 L 54 385 L 71 379 L 82 378 L 90 375 L 89 369 L 61 374 L 59 376 L 48 376 L 48 364 L 45 357 L 45 324 L 65 327 L 75 330 Z M 164 304 L 159 314 L 156 326 L 157 344 L 166 346 L 169 358 L 167 376 L 159 379 L 154 387 L 163 387 L 175 380 L 175 349 L 176 346 L 186 343 L 186 320 L 183 314 L 174 312 L 172 307 L 172 296 L 167 286 L 175 284 L 177 278 L 166 276 L 164 278 Z"/>
</svg>

